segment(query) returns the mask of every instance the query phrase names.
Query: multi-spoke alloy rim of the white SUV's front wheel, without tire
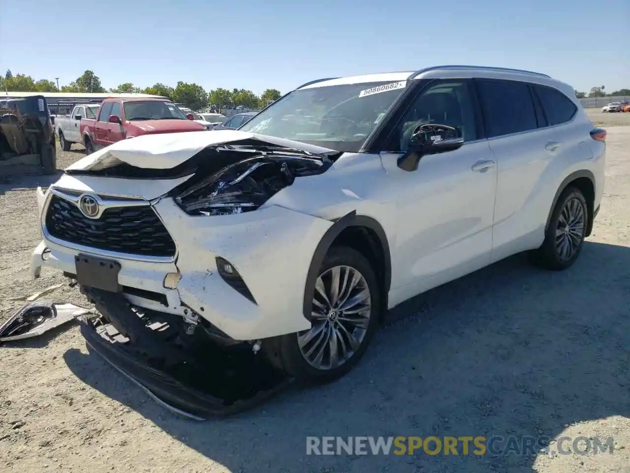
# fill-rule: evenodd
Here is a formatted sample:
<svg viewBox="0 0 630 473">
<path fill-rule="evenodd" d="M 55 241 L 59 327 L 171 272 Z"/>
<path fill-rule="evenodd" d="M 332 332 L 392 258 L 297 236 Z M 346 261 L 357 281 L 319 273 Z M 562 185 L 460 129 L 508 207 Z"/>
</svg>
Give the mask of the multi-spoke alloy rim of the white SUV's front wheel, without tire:
<svg viewBox="0 0 630 473">
<path fill-rule="evenodd" d="M 370 289 L 357 269 L 335 266 L 324 271 L 315 283 L 312 327 L 297 334 L 302 356 L 318 370 L 343 365 L 361 346 L 371 313 Z"/>
</svg>

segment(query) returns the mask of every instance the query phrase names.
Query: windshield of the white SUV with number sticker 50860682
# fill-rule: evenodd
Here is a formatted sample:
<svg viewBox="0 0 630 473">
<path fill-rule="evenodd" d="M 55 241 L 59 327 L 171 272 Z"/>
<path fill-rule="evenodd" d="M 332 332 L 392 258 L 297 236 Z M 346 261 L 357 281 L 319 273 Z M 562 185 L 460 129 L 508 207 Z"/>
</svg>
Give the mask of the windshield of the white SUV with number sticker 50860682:
<svg viewBox="0 0 630 473">
<path fill-rule="evenodd" d="M 356 152 L 406 85 L 372 82 L 295 90 L 239 130 Z"/>
</svg>

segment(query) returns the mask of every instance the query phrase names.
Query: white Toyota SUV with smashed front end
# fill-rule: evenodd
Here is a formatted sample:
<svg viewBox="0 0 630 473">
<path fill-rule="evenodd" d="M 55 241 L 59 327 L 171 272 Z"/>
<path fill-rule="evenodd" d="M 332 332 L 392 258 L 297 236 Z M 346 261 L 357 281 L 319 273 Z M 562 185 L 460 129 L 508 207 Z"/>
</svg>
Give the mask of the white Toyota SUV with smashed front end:
<svg viewBox="0 0 630 473">
<path fill-rule="evenodd" d="M 142 313 L 163 313 L 180 342 L 244 342 L 330 380 L 423 291 L 524 251 L 570 267 L 599 210 L 605 134 L 571 86 L 528 71 L 312 81 L 239 130 L 77 161 L 37 190 L 31 271 L 76 279 L 132 341 Z"/>
</svg>

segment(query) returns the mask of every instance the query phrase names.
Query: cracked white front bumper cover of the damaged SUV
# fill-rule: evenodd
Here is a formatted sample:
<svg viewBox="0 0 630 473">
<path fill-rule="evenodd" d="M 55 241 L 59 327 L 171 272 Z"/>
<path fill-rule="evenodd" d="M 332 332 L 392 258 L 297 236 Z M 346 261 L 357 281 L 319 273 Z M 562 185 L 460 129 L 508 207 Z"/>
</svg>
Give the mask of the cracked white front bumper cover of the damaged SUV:
<svg viewBox="0 0 630 473">
<path fill-rule="evenodd" d="M 99 193 L 98 189 L 93 192 Z M 49 201 L 50 192 L 38 191 L 40 216 L 45 215 Z M 192 312 L 237 341 L 311 327 L 304 317 L 307 273 L 316 247 L 333 222 L 277 206 L 229 216 L 192 217 L 170 198 L 154 204 L 154 210 L 176 243 L 175 258 L 136 258 L 61 242 L 47 233 L 40 217 L 43 241 L 33 252 L 31 277 L 37 277 L 42 266 L 72 276 L 76 255 L 84 253 L 120 264 L 118 282 L 130 303 L 184 318 Z M 253 301 L 221 277 L 217 257 L 236 268 Z M 175 288 L 165 287 L 169 273 L 181 274 Z"/>
</svg>

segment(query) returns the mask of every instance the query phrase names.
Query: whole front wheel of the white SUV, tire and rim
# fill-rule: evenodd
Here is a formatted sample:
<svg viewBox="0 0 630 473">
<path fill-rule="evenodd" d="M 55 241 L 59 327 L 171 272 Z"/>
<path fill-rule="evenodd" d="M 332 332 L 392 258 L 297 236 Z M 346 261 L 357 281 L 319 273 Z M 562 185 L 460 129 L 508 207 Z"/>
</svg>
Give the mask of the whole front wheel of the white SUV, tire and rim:
<svg viewBox="0 0 630 473">
<path fill-rule="evenodd" d="M 312 327 L 263 341 L 263 349 L 290 376 L 325 383 L 345 375 L 365 353 L 378 324 L 381 288 L 364 255 L 333 247 L 312 299 Z"/>
</svg>

